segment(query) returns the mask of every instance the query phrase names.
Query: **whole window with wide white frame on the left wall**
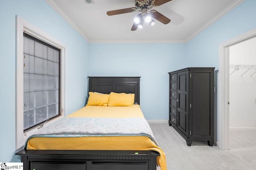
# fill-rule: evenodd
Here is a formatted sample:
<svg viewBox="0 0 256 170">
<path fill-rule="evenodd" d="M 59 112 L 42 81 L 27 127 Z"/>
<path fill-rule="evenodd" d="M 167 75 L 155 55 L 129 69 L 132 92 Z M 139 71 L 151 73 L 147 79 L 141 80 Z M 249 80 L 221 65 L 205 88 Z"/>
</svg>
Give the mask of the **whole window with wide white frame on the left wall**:
<svg viewBox="0 0 256 170">
<path fill-rule="evenodd" d="M 16 149 L 64 115 L 65 47 L 16 16 Z"/>
</svg>

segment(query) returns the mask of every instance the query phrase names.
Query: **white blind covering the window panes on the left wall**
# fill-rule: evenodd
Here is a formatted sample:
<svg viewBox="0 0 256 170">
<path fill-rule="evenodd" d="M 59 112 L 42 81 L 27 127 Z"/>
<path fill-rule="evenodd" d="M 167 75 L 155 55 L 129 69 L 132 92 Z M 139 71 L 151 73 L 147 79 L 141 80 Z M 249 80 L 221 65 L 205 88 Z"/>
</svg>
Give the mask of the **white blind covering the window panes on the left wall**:
<svg viewBox="0 0 256 170">
<path fill-rule="evenodd" d="M 60 115 L 60 49 L 24 33 L 24 131 Z"/>
</svg>

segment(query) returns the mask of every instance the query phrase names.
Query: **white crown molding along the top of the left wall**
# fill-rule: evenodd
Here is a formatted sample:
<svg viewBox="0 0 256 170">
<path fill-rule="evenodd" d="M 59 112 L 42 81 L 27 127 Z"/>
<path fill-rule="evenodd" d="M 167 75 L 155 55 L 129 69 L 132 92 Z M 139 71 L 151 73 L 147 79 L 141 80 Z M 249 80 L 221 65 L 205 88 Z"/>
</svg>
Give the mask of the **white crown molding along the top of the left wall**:
<svg viewBox="0 0 256 170">
<path fill-rule="evenodd" d="M 87 42 L 90 42 L 90 39 L 82 32 L 82 30 L 71 20 L 71 18 L 60 8 L 60 6 L 54 0 L 45 0 L 70 26 L 72 26 Z"/>
</svg>

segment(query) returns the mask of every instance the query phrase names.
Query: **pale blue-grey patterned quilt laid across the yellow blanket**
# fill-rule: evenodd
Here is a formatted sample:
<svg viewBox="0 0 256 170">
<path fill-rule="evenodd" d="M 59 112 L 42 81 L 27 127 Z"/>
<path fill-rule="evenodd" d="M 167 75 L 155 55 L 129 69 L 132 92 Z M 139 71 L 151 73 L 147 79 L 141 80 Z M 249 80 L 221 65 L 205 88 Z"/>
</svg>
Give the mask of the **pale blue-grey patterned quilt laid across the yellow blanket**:
<svg viewBox="0 0 256 170">
<path fill-rule="evenodd" d="M 62 118 L 39 129 L 28 140 L 32 137 L 80 136 L 148 136 L 158 146 L 148 122 L 143 118 Z"/>
</svg>

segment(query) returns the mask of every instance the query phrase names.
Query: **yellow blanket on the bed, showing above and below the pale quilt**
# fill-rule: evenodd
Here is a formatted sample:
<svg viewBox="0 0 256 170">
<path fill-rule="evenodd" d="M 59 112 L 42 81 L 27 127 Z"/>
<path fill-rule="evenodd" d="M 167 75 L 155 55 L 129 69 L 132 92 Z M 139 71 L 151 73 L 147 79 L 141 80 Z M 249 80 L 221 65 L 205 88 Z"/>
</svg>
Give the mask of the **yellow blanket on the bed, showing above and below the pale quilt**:
<svg viewBox="0 0 256 170">
<path fill-rule="evenodd" d="M 86 106 L 67 118 L 138 118 L 144 119 L 140 105 L 130 107 Z M 154 150 L 160 153 L 157 164 L 166 170 L 163 150 L 148 136 L 79 136 L 42 137 L 32 136 L 27 150 Z"/>
</svg>

